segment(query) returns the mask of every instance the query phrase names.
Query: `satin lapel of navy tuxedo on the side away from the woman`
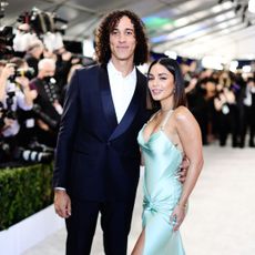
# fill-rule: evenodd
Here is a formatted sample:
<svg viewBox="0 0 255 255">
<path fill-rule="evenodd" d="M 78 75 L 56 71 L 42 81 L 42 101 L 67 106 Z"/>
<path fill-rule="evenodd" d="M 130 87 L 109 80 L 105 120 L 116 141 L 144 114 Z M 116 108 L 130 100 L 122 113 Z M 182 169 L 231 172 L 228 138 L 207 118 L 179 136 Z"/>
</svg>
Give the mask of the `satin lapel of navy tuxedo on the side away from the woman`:
<svg viewBox="0 0 255 255">
<path fill-rule="evenodd" d="M 108 70 L 105 65 L 101 65 L 100 68 L 99 83 L 100 83 L 101 100 L 102 100 L 105 119 L 110 129 L 113 131 L 118 125 L 118 121 L 116 121 L 114 104 L 112 101 Z"/>
</svg>

